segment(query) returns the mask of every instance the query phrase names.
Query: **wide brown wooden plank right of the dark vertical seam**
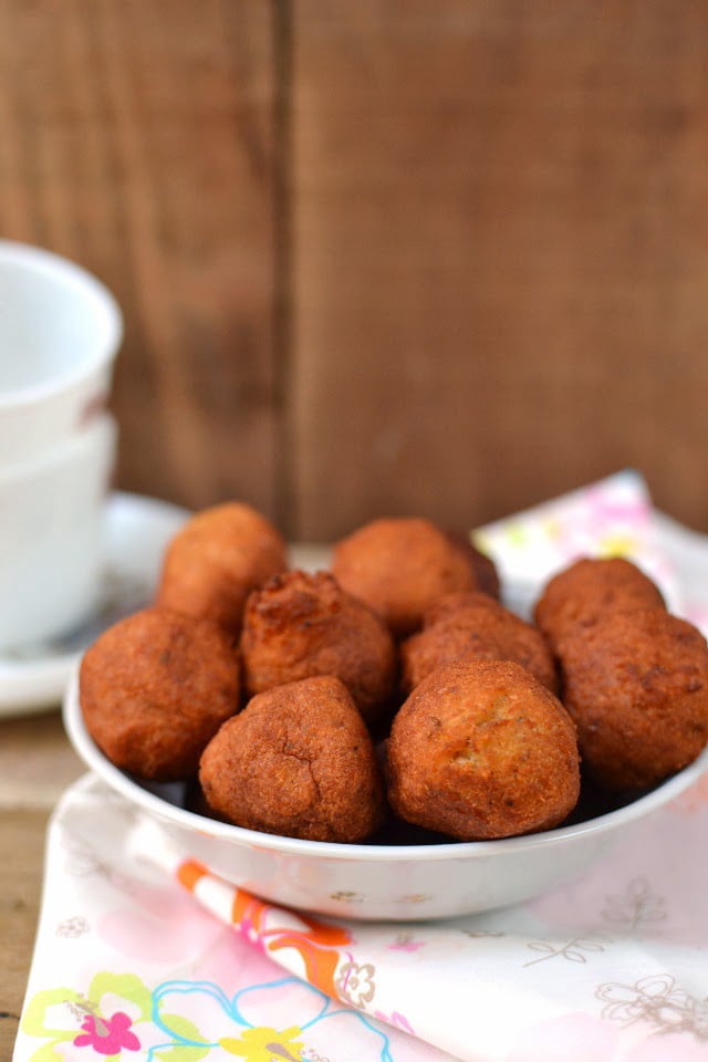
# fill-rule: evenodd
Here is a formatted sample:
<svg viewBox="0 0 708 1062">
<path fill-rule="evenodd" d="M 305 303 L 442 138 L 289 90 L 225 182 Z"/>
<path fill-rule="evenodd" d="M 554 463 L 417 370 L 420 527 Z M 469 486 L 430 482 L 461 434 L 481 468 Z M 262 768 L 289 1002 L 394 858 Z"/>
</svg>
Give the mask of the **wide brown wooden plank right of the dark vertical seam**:
<svg viewBox="0 0 708 1062">
<path fill-rule="evenodd" d="M 296 531 L 624 466 L 708 529 L 705 8 L 294 12 Z"/>
</svg>

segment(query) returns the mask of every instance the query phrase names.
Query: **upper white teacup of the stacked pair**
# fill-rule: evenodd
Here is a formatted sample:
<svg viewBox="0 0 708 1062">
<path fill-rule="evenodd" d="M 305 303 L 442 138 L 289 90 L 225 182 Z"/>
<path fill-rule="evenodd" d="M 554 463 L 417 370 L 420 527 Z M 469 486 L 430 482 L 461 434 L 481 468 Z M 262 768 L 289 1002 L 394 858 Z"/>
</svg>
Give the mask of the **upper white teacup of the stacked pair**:
<svg viewBox="0 0 708 1062">
<path fill-rule="evenodd" d="M 122 335 L 95 277 L 0 240 L 0 470 L 53 452 L 101 414 Z"/>
</svg>

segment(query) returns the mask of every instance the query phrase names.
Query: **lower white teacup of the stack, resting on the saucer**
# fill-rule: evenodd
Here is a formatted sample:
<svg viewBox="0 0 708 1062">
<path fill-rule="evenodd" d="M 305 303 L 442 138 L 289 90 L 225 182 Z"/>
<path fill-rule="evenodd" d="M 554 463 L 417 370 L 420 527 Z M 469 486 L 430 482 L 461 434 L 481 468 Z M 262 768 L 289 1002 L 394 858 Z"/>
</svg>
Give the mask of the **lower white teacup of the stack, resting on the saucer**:
<svg viewBox="0 0 708 1062">
<path fill-rule="evenodd" d="M 104 413 L 51 455 L 0 469 L 0 653 L 70 632 L 95 608 L 116 439 Z"/>
</svg>

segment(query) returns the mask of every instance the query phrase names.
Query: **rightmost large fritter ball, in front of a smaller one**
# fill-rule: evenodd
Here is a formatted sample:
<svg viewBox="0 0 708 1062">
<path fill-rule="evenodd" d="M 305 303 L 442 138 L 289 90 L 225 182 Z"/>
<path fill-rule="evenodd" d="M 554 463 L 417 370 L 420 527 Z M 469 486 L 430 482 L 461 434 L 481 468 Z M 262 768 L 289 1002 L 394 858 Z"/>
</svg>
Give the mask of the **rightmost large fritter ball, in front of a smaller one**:
<svg viewBox="0 0 708 1062">
<path fill-rule="evenodd" d="M 615 612 L 566 637 L 560 659 L 583 764 L 606 789 L 654 785 L 708 741 L 708 648 L 690 623 Z"/>
</svg>

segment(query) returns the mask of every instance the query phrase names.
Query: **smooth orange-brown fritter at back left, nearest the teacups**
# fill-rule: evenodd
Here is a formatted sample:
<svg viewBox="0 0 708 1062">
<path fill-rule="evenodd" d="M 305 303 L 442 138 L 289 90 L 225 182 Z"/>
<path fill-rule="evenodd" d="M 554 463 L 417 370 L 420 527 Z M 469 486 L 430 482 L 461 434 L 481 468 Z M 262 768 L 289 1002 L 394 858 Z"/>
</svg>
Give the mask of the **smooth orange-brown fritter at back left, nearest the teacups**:
<svg viewBox="0 0 708 1062">
<path fill-rule="evenodd" d="M 238 636 L 246 598 L 288 568 L 285 542 L 259 512 L 227 502 L 194 516 L 169 543 L 156 604 Z"/>
</svg>

